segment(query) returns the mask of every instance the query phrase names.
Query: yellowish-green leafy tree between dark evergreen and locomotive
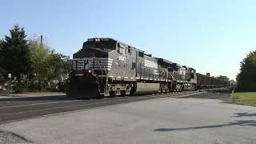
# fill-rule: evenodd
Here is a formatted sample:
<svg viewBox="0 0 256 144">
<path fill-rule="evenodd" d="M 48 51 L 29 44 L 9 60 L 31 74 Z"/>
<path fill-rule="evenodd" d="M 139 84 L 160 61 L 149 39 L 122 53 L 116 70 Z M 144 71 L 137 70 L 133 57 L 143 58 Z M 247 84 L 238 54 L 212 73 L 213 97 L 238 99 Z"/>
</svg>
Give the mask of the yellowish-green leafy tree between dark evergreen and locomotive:
<svg viewBox="0 0 256 144">
<path fill-rule="evenodd" d="M 55 53 L 54 50 L 50 50 L 50 46 L 41 44 L 36 38 L 30 40 L 30 54 L 33 64 L 33 74 L 30 74 L 30 79 L 38 82 L 39 90 L 46 90 L 51 80 L 64 82 L 71 70 L 68 56 Z"/>
</svg>

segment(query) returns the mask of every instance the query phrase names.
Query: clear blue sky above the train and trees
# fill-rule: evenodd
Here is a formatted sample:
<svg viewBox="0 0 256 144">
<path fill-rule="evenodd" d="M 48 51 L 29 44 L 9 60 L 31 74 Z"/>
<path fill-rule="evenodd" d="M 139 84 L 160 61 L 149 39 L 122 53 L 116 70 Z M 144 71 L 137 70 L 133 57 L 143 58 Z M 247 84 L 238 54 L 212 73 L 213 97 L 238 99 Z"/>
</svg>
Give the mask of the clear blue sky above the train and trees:
<svg viewBox="0 0 256 144">
<path fill-rule="evenodd" d="M 116 38 L 199 73 L 235 78 L 256 50 L 255 7 L 254 0 L 1 0 L 0 38 L 18 24 L 70 56 L 87 38 Z"/>
</svg>

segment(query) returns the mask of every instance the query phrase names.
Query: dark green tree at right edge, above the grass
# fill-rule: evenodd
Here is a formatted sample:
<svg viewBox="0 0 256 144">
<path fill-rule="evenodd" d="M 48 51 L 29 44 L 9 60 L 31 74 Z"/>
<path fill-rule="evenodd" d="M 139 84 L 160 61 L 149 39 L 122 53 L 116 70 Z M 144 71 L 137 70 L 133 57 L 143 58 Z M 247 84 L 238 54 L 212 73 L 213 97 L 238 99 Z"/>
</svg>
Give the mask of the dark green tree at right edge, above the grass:
<svg viewBox="0 0 256 144">
<path fill-rule="evenodd" d="M 238 90 L 256 91 L 256 50 L 247 54 L 240 63 L 237 81 Z"/>
</svg>

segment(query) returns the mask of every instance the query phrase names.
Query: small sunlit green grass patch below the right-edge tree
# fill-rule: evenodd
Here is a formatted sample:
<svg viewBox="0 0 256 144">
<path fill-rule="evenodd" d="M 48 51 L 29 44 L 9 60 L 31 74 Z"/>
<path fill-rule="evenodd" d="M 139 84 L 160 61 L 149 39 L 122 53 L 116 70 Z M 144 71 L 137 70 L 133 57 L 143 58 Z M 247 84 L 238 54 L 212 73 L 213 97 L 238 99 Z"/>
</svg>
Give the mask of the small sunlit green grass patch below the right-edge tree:
<svg viewBox="0 0 256 144">
<path fill-rule="evenodd" d="M 234 103 L 256 106 L 256 92 L 234 93 Z"/>
</svg>

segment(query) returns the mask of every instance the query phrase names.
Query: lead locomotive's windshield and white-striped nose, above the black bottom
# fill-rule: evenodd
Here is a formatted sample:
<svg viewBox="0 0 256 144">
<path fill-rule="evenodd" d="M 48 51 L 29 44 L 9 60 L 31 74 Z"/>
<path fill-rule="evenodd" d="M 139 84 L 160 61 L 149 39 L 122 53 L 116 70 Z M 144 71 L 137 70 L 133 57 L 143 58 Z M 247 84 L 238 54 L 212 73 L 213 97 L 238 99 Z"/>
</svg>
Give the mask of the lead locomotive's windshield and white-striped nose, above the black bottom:
<svg viewBox="0 0 256 144">
<path fill-rule="evenodd" d="M 109 53 L 116 50 L 116 43 L 110 38 L 88 39 L 83 43 L 82 50 L 73 55 L 74 74 L 106 75 L 113 61 Z"/>
</svg>

